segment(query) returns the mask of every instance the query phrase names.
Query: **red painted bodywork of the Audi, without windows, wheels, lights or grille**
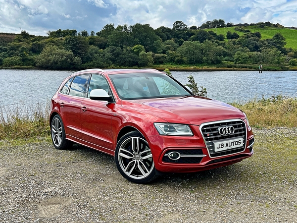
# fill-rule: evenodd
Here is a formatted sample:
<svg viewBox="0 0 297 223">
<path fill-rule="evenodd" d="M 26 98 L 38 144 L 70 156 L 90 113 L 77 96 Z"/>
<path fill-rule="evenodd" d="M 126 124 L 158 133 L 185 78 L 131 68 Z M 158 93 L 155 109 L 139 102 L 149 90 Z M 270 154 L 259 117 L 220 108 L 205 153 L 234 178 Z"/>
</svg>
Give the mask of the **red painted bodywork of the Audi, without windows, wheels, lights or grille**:
<svg viewBox="0 0 297 223">
<path fill-rule="evenodd" d="M 85 70 L 65 78 L 51 100 L 50 120 L 54 114 L 62 117 L 66 138 L 82 145 L 114 156 L 117 141 L 125 129 L 138 130 L 148 141 L 156 170 L 161 172 L 193 172 L 222 167 L 242 161 L 253 155 L 249 140 L 253 133 L 242 111 L 228 104 L 202 97 L 171 97 L 138 100 L 122 100 L 109 75 L 121 73 L 153 73 L 152 70 Z M 65 95 L 60 92 L 71 77 L 98 73 L 103 75 L 112 92 L 114 102 L 94 101 L 89 98 Z M 203 123 L 221 120 L 243 120 L 246 128 L 244 151 L 210 157 L 199 129 Z M 188 124 L 193 136 L 160 135 L 156 122 Z M 167 163 L 162 160 L 169 150 L 201 149 L 205 155 L 198 164 Z"/>
</svg>

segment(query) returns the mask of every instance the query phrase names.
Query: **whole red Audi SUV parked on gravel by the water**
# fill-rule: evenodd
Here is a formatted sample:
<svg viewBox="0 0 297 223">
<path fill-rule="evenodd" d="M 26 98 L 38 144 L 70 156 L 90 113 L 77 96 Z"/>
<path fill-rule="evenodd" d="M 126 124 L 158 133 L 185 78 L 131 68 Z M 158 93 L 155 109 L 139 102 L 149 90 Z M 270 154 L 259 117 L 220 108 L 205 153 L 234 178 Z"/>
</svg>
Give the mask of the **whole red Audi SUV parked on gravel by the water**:
<svg viewBox="0 0 297 223">
<path fill-rule="evenodd" d="M 254 137 L 243 111 L 195 96 L 154 69 L 75 72 L 63 80 L 50 106 L 56 149 L 74 142 L 114 156 L 119 172 L 135 183 L 253 155 Z"/>
</svg>

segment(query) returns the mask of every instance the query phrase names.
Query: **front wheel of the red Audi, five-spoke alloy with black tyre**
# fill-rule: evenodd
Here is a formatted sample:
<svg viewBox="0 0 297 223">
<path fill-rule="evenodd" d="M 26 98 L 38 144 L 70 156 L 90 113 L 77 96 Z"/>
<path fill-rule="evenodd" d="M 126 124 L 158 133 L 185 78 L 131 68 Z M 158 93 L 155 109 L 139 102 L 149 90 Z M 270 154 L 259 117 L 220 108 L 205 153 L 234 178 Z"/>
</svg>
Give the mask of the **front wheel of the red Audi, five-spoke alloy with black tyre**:
<svg viewBox="0 0 297 223">
<path fill-rule="evenodd" d="M 114 157 L 122 176 L 134 183 L 148 183 L 157 177 L 148 142 L 138 131 L 119 140 Z"/>
</svg>

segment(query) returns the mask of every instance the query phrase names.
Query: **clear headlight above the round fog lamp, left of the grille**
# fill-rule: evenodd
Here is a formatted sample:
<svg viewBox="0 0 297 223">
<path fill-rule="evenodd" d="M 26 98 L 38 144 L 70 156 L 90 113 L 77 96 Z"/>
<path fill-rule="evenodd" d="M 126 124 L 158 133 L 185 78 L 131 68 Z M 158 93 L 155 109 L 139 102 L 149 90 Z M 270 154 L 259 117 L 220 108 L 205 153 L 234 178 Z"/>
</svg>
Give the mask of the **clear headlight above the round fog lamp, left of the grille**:
<svg viewBox="0 0 297 223">
<path fill-rule="evenodd" d="M 193 135 L 189 125 L 154 123 L 160 135 Z"/>
</svg>

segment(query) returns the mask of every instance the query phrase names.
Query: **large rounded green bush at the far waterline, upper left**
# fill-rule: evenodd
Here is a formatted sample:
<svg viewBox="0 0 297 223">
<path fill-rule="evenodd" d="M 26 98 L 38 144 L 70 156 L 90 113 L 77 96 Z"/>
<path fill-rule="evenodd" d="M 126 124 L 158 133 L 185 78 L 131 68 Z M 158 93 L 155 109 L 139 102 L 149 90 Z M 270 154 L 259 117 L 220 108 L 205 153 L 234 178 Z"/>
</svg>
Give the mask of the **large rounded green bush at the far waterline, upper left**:
<svg viewBox="0 0 297 223">
<path fill-rule="evenodd" d="M 36 66 L 47 69 L 78 68 L 81 59 L 71 51 L 59 49 L 57 46 L 48 46 L 36 57 Z"/>
</svg>

